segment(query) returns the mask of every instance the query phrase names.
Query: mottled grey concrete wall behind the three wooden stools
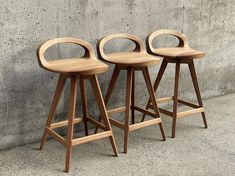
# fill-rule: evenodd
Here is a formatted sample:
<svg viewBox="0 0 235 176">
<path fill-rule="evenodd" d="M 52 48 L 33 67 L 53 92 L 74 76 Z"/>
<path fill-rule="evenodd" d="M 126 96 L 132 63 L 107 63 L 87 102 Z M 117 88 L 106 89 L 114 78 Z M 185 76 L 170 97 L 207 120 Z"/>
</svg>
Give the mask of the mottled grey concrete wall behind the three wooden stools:
<svg viewBox="0 0 235 176">
<path fill-rule="evenodd" d="M 192 48 L 206 52 L 196 63 L 203 98 L 235 91 L 234 0 L 1 0 L 0 9 L 0 150 L 38 141 L 42 135 L 58 75 L 39 68 L 35 51 L 49 38 L 78 37 L 95 46 L 107 34 L 128 32 L 144 39 L 157 29 L 175 29 L 188 36 Z M 129 47 L 124 46 L 119 49 Z M 77 52 L 67 46 L 48 53 L 54 58 L 71 54 Z M 150 69 L 153 79 L 158 68 Z M 103 92 L 112 69 L 99 76 Z M 193 99 L 188 74 L 183 67 L 181 96 Z M 173 75 L 169 66 L 158 96 L 172 93 Z M 138 77 L 137 101 L 145 104 L 147 91 L 142 75 Z M 124 83 L 122 73 L 111 106 L 124 100 L 118 96 L 124 93 Z M 57 118 L 67 110 L 67 95 L 68 89 Z M 93 100 L 90 111 L 97 114 Z"/>
</svg>

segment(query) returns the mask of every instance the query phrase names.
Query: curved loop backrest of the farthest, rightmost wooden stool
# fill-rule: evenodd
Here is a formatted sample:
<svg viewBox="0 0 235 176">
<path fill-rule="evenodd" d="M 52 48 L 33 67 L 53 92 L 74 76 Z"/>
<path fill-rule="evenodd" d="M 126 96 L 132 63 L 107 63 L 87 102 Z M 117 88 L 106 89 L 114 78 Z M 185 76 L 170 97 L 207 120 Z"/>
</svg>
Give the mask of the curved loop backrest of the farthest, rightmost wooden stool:
<svg viewBox="0 0 235 176">
<path fill-rule="evenodd" d="M 146 39 L 146 45 L 147 45 L 148 51 L 150 50 L 153 52 L 153 50 L 154 50 L 153 40 L 159 35 L 175 36 L 179 40 L 178 47 L 189 48 L 188 40 L 183 33 L 180 33 L 180 32 L 174 31 L 174 30 L 158 30 L 158 31 L 150 33 Z"/>
</svg>

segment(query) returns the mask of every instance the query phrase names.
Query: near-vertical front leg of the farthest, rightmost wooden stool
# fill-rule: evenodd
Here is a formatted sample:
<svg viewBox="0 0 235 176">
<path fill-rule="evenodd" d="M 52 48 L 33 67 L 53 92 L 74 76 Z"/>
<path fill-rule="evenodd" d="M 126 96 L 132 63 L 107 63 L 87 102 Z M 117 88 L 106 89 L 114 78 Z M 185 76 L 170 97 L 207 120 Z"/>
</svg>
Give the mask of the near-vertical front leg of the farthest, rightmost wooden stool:
<svg viewBox="0 0 235 176">
<path fill-rule="evenodd" d="M 180 63 L 176 62 L 176 67 L 175 67 L 174 102 L 173 102 L 172 138 L 175 137 L 175 129 L 176 129 L 179 77 L 180 77 Z"/>
</svg>

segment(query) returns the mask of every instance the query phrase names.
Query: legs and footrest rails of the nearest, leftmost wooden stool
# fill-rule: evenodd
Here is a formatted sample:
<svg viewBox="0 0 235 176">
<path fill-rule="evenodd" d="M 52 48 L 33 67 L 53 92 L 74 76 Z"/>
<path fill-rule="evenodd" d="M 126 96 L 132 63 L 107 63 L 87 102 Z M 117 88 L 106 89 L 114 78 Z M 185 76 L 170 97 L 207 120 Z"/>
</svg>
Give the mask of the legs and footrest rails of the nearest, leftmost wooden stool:
<svg viewBox="0 0 235 176">
<path fill-rule="evenodd" d="M 56 107 L 58 105 L 60 96 L 62 94 L 65 82 L 67 77 L 71 79 L 71 85 L 70 85 L 70 100 L 69 100 L 69 111 L 68 111 L 68 120 L 52 123 L 52 120 L 55 115 Z M 75 116 L 75 107 L 76 107 L 76 97 L 77 97 L 77 79 L 80 79 L 80 88 L 81 88 L 81 100 L 83 105 L 83 117 L 76 117 Z M 101 116 L 103 118 L 104 123 L 100 123 L 96 121 L 95 119 L 89 117 L 88 115 L 88 109 L 87 109 L 87 99 L 85 94 L 85 80 L 89 79 L 91 82 L 91 87 L 94 91 L 95 98 L 101 113 Z M 73 139 L 73 129 L 74 125 L 78 124 L 80 122 L 84 123 L 84 129 L 85 129 L 85 137 Z M 104 132 L 98 133 L 98 134 L 88 134 L 88 128 L 87 128 L 87 122 L 92 123 L 96 127 L 99 127 L 104 130 Z M 65 139 L 58 133 L 54 131 L 54 129 L 60 128 L 60 127 L 67 127 L 67 138 Z M 54 94 L 54 99 L 51 105 L 50 113 L 47 120 L 47 125 L 44 130 L 44 134 L 41 140 L 40 150 L 42 150 L 43 145 L 47 139 L 47 136 L 50 135 L 54 139 L 56 139 L 58 142 L 63 144 L 66 147 L 66 162 L 65 162 L 65 171 L 69 172 L 70 165 L 71 165 L 71 152 L 72 147 L 75 145 L 80 145 L 83 143 L 87 143 L 90 141 L 102 139 L 109 137 L 113 151 L 115 156 L 118 156 L 118 151 L 116 148 L 115 140 L 113 137 L 112 129 L 110 122 L 108 120 L 107 111 L 104 105 L 103 97 L 100 91 L 99 83 L 97 80 L 96 75 L 89 75 L 89 76 L 78 76 L 78 75 L 63 75 L 61 74 L 57 83 L 57 87 Z"/>
</svg>

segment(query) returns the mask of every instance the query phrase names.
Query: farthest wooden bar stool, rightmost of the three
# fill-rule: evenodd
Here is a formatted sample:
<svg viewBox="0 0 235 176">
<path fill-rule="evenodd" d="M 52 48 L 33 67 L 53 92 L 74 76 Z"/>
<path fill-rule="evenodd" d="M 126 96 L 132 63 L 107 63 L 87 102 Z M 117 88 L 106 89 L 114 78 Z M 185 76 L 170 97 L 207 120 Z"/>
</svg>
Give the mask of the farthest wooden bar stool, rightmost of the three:
<svg viewBox="0 0 235 176">
<path fill-rule="evenodd" d="M 175 47 L 175 48 L 154 48 L 152 45 L 153 40 L 159 35 L 166 35 L 166 34 L 175 36 L 179 39 L 178 47 Z M 159 30 L 159 31 L 155 31 L 155 32 L 149 34 L 146 39 L 146 44 L 147 44 L 147 50 L 149 53 L 156 55 L 156 56 L 164 57 L 162 64 L 161 64 L 161 67 L 160 67 L 160 70 L 159 70 L 159 73 L 157 75 L 157 79 L 154 83 L 154 91 L 156 91 L 159 86 L 159 83 L 162 79 L 162 76 L 163 76 L 164 71 L 167 67 L 167 64 L 168 63 L 175 64 L 174 96 L 157 100 L 157 102 L 159 102 L 159 103 L 173 101 L 173 112 L 159 108 L 161 113 L 168 115 L 168 116 L 171 116 L 173 118 L 172 137 L 173 138 L 175 137 L 176 119 L 180 119 L 180 118 L 188 116 L 188 115 L 201 113 L 205 128 L 207 128 L 206 116 L 205 116 L 205 112 L 204 112 L 204 108 L 203 108 L 203 104 L 202 104 L 202 98 L 200 95 L 200 90 L 199 90 L 197 76 L 196 76 L 194 62 L 193 62 L 193 59 L 202 58 L 205 55 L 205 53 L 191 49 L 189 47 L 188 40 L 187 40 L 186 36 L 180 32 L 173 31 L 173 30 Z M 181 64 L 188 64 L 190 74 L 192 77 L 192 81 L 193 81 L 193 86 L 194 86 L 194 89 L 195 89 L 195 92 L 197 95 L 197 100 L 198 100 L 199 105 L 178 98 L 179 74 L 180 74 L 180 65 Z M 184 105 L 189 106 L 193 109 L 188 110 L 188 111 L 183 111 L 183 112 L 177 112 L 177 104 L 178 103 L 184 104 Z M 146 109 L 149 109 L 149 108 L 153 108 L 152 103 L 151 103 L 151 99 L 149 99 L 147 106 L 146 106 Z M 146 114 L 143 115 L 142 121 L 144 121 L 145 115 Z"/>
</svg>

